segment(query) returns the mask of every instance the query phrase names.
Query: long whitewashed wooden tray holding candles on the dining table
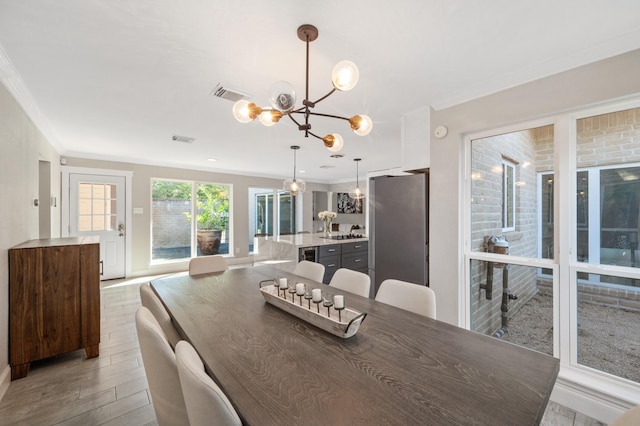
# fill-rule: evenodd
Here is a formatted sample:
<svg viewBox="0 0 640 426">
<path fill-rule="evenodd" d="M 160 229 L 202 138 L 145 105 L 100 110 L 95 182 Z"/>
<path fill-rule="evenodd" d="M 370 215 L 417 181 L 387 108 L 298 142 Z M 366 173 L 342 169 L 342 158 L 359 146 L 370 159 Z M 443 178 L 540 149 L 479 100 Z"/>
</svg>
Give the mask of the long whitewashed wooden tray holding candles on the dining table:
<svg viewBox="0 0 640 426">
<path fill-rule="evenodd" d="M 266 282 L 272 283 L 273 281 L 268 280 Z M 332 307 L 329 308 L 328 316 L 327 308 L 322 306 L 322 302 L 320 303 L 320 312 L 318 312 L 318 307 L 315 303 L 312 302 L 311 308 L 309 308 L 308 300 L 302 298 L 301 305 L 299 296 L 294 294 L 294 301 L 292 301 L 291 293 L 288 291 L 280 290 L 273 284 L 263 285 L 263 283 L 264 281 L 260 283 L 260 292 L 268 303 L 343 339 L 354 336 L 367 316 L 366 312 L 358 312 L 349 308 L 344 308 L 338 313 Z M 282 297 L 283 292 L 285 292 L 284 298 Z"/>
</svg>

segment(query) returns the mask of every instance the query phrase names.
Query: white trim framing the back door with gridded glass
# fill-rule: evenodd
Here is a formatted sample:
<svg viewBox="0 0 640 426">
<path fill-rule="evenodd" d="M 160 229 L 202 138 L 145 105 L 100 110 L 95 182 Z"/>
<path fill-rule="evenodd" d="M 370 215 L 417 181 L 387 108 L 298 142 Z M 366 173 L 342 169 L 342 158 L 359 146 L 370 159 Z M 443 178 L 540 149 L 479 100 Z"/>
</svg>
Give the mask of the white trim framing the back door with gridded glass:
<svg viewBox="0 0 640 426">
<path fill-rule="evenodd" d="M 61 186 L 62 191 L 60 194 L 61 206 L 60 206 L 60 221 L 61 221 L 61 235 L 63 237 L 69 236 L 69 199 L 71 188 L 69 187 L 69 175 L 72 173 L 84 174 L 84 175 L 101 175 L 101 176 L 120 176 L 125 178 L 125 208 L 124 218 L 127 226 L 127 232 L 124 235 L 125 246 L 125 276 L 131 276 L 131 223 L 132 223 L 132 186 L 133 186 L 133 172 L 126 170 L 111 170 L 111 169 L 94 169 L 88 167 L 72 167 L 62 166 L 61 170 Z"/>
</svg>

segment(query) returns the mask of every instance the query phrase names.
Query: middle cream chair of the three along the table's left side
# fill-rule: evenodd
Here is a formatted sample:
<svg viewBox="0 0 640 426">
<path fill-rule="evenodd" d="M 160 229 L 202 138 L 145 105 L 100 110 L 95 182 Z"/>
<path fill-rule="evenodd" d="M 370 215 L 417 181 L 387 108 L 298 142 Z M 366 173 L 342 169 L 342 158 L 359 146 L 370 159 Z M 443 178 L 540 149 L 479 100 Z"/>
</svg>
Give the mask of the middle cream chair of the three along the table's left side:
<svg viewBox="0 0 640 426">
<path fill-rule="evenodd" d="M 144 306 L 136 311 L 136 330 L 158 424 L 188 425 L 175 353 L 158 321 Z"/>
</svg>

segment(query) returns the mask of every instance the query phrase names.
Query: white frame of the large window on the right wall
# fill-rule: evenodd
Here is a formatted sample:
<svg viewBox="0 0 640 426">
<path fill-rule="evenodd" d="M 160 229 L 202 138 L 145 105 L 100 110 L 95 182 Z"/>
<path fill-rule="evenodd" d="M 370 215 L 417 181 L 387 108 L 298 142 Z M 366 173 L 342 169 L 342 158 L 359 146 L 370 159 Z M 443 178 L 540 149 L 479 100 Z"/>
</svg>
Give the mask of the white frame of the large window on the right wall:
<svg viewBox="0 0 640 426">
<path fill-rule="evenodd" d="M 612 100 L 596 107 L 586 106 L 580 110 L 562 112 L 538 120 L 530 120 L 509 126 L 493 128 L 477 133 L 464 135 L 464 184 L 461 191 L 463 218 L 461 225 L 461 243 L 463 246 L 464 274 L 459 283 L 459 323 L 470 328 L 471 298 L 477 295 L 470 291 L 470 261 L 483 260 L 501 262 L 504 256 L 492 253 L 472 251 L 471 235 L 471 165 L 472 141 L 503 133 L 512 133 L 522 129 L 544 125 L 554 126 L 554 259 L 530 259 L 509 256 L 508 263 L 526 266 L 537 265 L 540 268 L 553 270 L 554 298 L 554 356 L 560 359 L 560 373 L 556 387 L 561 392 L 571 389 L 580 397 L 598 398 L 612 401 L 637 401 L 640 394 L 640 383 L 631 382 L 603 371 L 577 363 L 577 296 L 578 274 L 617 275 L 620 277 L 640 279 L 640 268 L 637 270 L 616 265 L 594 265 L 577 261 L 577 120 L 596 115 L 619 112 L 640 107 L 640 97 L 626 100 Z M 561 203 L 560 200 L 563 200 Z M 589 198 L 589 209 L 594 197 Z M 598 210 L 598 206 L 595 206 Z M 562 244 L 559 243 L 562 241 Z M 576 386 L 579 384 L 579 386 Z M 565 394 L 566 396 L 567 394 Z"/>
</svg>

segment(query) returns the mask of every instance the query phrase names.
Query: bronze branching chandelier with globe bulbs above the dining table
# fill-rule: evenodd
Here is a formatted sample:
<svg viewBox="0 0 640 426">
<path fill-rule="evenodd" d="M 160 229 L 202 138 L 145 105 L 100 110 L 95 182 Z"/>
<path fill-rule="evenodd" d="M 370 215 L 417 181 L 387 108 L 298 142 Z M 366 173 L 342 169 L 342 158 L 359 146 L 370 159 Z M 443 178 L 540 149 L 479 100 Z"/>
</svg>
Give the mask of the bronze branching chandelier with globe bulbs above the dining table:
<svg viewBox="0 0 640 426">
<path fill-rule="evenodd" d="M 330 133 L 325 136 L 318 136 L 311 131 L 311 124 L 309 123 L 310 116 L 329 117 L 345 120 L 351 126 L 351 129 L 356 135 L 366 136 L 371 132 L 373 122 L 367 115 L 354 115 L 353 117 L 342 117 L 333 114 L 324 114 L 314 112 L 316 104 L 328 98 L 336 90 L 340 92 L 346 92 L 351 90 L 358 83 L 359 72 L 358 67 L 351 61 L 340 61 L 334 67 L 331 72 L 331 79 L 333 81 L 333 88 L 326 95 L 321 98 L 310 101 L 309 100 L 309 43 L 318 38 L 318 29 L 313 25 L 305 24 L 298 27 L 298 38 L 307 44 L 307 58 L 306 58 L 306 83 L 305 83 L 305 98 L 302 101 L 302 106 L 296 107 L 296 91 L 293 85 L 287 81 L 278 81 L 274 83 L 269 89 L 269 103 L 271 107 L 259 107 L 253 102 L 247 100 L 239 100 L 233 105 L 233 115 L 241 123 L 249 123 L 250 121 L 258 118 L 265 126 L 273 126 L 283 116 L 288 116 L 297 126 L 298 130 L 304 132 L 305 137 L 313 136 L 321 139 L 324 142 L 324 146 L 330 151 L 338 152 L 344 145 L 342 136 L 338 133 Z M 298 116 L 296 119 L 295 116 Z M 302 117 L 300 117 L 302 116 Z"/>
</svg>

